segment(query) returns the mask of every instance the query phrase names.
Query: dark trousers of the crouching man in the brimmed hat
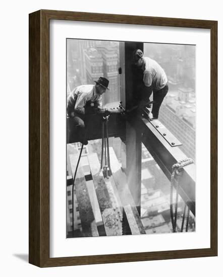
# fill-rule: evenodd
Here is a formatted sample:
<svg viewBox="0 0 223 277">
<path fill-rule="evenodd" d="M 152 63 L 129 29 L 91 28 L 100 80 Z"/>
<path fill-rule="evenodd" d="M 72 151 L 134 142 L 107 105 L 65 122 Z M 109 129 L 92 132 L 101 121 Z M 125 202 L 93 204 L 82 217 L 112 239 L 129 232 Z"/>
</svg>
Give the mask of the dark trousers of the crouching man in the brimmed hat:
<svg viewBox="0 0 223 277">
<path fill-rule="evenodd" d="M 68 118 L 67 141 L 71 143 L 72 137 L 76 136 L 78 141 L 83 141 L 85 136 L 84 115 L 75 114 L 74 117 Z"/>
</svg>

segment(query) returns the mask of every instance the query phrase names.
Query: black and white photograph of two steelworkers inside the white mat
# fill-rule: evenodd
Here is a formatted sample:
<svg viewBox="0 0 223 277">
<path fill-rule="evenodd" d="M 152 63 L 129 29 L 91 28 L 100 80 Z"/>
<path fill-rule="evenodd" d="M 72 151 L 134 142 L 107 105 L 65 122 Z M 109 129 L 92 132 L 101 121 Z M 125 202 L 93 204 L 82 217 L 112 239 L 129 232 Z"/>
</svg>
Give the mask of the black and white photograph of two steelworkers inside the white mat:
<svg viewBox="0 0 223 277">
<path fill-rule="evenodd" d="M 67 38 L 67 238 L 195 232 L 196 45 Z"/>
</svg>

